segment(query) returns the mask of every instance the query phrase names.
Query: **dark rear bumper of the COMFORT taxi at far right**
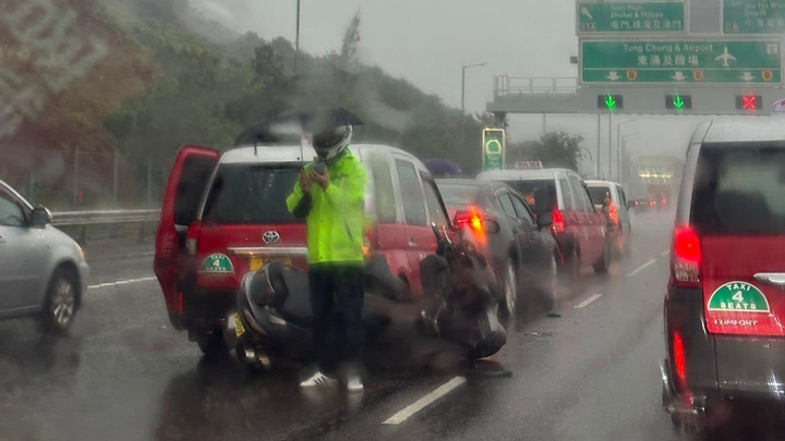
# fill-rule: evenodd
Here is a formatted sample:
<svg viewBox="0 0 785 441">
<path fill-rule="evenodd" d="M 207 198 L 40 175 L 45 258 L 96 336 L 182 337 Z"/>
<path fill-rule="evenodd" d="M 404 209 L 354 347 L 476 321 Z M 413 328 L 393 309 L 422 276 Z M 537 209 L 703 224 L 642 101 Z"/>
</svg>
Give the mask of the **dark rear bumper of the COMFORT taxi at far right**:
<svg viewBox="0 0 785 441">
<path fill-rule="evenodd" d="M 706 399 L 785 401 L 785 339 L 709 333 L 700 289 L 671 289 L 664 319 L 663 405 L 668 412 L 685 413 L 688 402 L 699 409 Z M 675 333 L 684 344 L 684 377 L 674 362 Z"/>
</svg>

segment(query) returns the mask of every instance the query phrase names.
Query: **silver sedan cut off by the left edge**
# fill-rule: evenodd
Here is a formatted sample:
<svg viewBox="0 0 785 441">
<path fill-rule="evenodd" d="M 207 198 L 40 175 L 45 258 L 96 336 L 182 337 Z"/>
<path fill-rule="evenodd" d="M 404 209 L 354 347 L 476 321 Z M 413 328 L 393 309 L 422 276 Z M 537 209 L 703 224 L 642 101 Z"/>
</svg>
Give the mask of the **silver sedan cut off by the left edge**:
<svg viewBox="0 0 785 441">
<path fill-rule="evenodd" d="M 45 330 L 63 332 L 87 289 L 84 252 L 0 181 L 0 319 L 39 317 Z"/>
</svg>

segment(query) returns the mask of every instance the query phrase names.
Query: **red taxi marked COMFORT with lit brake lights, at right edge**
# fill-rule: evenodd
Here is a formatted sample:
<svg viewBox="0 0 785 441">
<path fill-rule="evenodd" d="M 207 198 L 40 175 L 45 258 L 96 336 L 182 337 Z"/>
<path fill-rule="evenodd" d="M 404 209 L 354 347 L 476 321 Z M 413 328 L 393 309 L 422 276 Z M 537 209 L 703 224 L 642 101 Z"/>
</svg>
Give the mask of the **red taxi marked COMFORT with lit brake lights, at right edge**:
<svg viewBox="0 0 785 441">
<path fill-rule="evenodd" d="M 663 405 L 703 425 L 785 396 L 785 125 L 709 121 L 687 151 L 665 296 Z"/>
</svg>

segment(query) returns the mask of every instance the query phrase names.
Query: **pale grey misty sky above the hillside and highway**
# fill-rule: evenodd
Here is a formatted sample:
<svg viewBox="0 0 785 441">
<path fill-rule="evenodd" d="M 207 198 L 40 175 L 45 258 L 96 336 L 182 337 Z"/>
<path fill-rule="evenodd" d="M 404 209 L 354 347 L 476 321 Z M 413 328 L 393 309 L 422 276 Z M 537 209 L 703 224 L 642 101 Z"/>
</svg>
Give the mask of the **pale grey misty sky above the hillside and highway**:
<svg viewBox="0 0 785 441">
<path fill-rule="evenodd" d="M 294 41 L 297 0 L 192 0 L 239 32 Z M 483 111 L 493 99 L 494 75 L 577 77 L 569 57 L 578 52 L 572 0 L 301 0 L 300 48 L 322 54 L 340 48 L 343 30 L 355 11 L 362 14 L 360 57 L 426 93 L 460 107 L 461 66 L 467 71 L 467 111 Z M 623 134 L 638 133 L 631 149 L 683 155 L 702 117 L 616 117 Z M 511 115 L 514 139 L 543 133 L 542 115 Z M 603 163 L 607 159 L 607 118 L 602 121 Z M 548 115 L 546 130 L 582 135 L 596 156 L 595 115 Z M 478 154 L 479 155 L 479 154 Z M 584 167 L 593 169 L 587 160 Z M 606 167 L 606 166 L 604 166 Z"/>
</svg>

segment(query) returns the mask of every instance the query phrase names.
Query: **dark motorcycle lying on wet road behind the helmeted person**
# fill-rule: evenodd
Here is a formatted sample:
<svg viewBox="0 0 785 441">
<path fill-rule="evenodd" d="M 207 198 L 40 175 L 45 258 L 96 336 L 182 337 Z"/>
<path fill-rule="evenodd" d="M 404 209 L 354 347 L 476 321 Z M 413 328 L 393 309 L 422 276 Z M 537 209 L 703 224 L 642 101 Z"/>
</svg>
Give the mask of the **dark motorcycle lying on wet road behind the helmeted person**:
<svg viewBox="0 0 785 441">
<path fill-rule="evenodd" d="M 436 255 L 423 259 L 421 277 L 426 292 L 420 329 L 482 358 L 498 352 L 507 341 L 497 318 L 496 277 L 470 244 L 454 244 L 439 234 Z M 365 267 L 366 294 L 362 318 L 366 344 L 390 321 L 408 286 L 390 271 L 384 256 Z M 226 321 L 227 342 L 234 341 L 238 358 L 254 370 L 269 369 L 270 357 L 309 362 L 314 357 L 307 274 L 271 261 L 243 278 L 237 311 Z M 370 338 L 371 336 L 371 338 Z"/>
</svg>

